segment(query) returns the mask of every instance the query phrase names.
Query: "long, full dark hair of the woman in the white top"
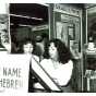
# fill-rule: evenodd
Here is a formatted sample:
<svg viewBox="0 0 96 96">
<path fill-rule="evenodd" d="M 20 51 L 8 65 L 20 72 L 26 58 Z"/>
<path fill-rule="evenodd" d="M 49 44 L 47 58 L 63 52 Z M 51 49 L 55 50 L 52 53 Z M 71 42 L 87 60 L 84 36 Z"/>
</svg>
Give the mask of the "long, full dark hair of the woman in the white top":
<svg viewBox="0 0 96 96">
<path fill-rule="evenodd" d="M 47 59 L 50 58 L 48 47 L 50 46 L 51 43 L 53 43 L 55 46 L 57 47 L 59 53 L 59 62 L 67 63 L 70 59 L 72 59 L 70 49 L 60 39 L 57 38 L 49 41 L 49 45 L 45 49 L 44 58 Z"/>
</svg>

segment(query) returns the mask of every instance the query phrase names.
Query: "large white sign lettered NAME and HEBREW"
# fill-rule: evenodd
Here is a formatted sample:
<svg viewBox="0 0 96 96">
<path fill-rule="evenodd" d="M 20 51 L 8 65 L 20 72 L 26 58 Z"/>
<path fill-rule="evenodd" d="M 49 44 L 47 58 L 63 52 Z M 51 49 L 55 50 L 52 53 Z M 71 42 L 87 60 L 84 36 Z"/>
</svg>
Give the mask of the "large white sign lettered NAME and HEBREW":
<svg viewBox="0 0 96 96">
<path fill-rule="evenodd" d="M 28 55 L 0 55 L 0 93 L 27 93 Z"/>
</svg>

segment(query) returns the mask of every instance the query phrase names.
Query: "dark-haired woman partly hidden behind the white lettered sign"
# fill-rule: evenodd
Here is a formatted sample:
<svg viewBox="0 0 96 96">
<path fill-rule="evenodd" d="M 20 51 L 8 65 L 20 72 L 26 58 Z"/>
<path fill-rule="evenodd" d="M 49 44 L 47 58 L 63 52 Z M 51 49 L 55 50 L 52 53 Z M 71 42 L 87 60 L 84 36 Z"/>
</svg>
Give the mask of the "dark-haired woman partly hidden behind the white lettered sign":
<svg viewBox="0 0 96 96">
<path fill-rule="evenodd" d="M 32 64 L 34 63 L 34 60 L 36 62 L 39 62 L 39 57 L 34 53 L 36 44 L 34 39 L 31 38 L 25 38 L 22 41 L 22 48 L 23 48 L 23 53 L 24 55 L 31 55 L 31 61 L 29 61 L 29 79 L 28 79 L 28 92 L 34 92 L 33 89 L 33 84 L 37 82 L 37 79 L 33 76 L 33 71 L 32 71 Z"/>
</svg>

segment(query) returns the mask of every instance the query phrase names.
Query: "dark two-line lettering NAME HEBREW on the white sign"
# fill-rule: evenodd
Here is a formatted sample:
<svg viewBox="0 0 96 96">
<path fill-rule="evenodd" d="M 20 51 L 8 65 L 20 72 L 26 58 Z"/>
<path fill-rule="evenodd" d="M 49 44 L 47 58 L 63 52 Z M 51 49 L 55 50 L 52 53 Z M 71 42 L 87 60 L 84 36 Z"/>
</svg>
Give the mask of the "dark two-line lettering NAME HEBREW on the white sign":
<svg viewBox="0 0 96 96">
<path fill-rule="evenodd" d="M 22 87 L 21 69 L 17 68 L 2 68 L 0 69 L 3 77 L 0 77 L 0 87 L 19 88 Z"/>
</svg>

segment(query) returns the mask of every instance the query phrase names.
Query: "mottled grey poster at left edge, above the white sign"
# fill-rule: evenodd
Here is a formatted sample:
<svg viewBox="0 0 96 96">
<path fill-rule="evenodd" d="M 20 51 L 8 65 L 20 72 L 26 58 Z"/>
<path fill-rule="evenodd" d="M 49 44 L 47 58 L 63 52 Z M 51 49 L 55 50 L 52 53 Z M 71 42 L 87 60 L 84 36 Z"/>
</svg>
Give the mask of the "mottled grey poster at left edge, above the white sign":
<svg viewBox="0 0 96 96">
<path fill-rule="evenodd" d="M 9 16 L 0 14 L 0 49 L 10 46 Z"/>
</svg>

